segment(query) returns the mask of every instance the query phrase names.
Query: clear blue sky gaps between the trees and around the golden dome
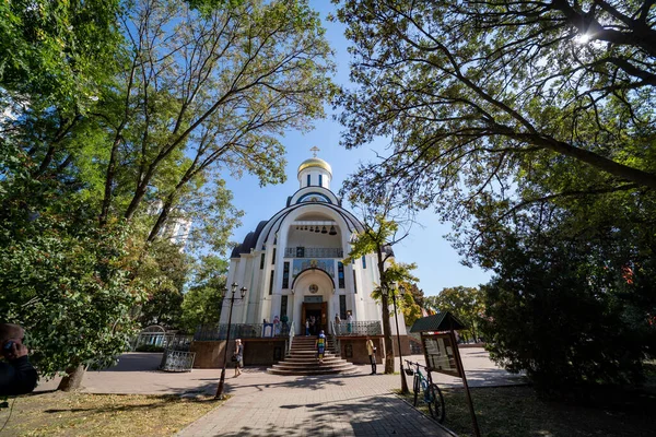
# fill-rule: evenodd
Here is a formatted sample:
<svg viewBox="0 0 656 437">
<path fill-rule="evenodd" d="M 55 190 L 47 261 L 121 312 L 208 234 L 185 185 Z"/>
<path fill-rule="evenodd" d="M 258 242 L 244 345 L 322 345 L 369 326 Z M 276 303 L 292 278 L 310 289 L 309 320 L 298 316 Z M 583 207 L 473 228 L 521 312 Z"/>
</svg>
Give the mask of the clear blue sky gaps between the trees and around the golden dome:
<svg viewBox="0 0 656 437">
<path fill-rule="evenodd" d="M 349 83 L 349 60 L 347 52 L 349 42 L 343 36 L 341 24 L 326 21 L 326 16 L 333 10 L 328 0 L 311 0 L 315 10 L 319 11 L 327 29 L 327 38 L 336 51 L 338 72 L 335 81 L 338 84 Z M 227 188 L 234 193 L 234 204 L 245 212 L 242 218 L 243 225 L 235 231 L 233 239 L 241 243 L 246 234 L 254 231 L 261 220 L 270 218 L 277 211 L 284 208 L 288 196 L 298 189 L 296 169 L 298 164 L 312 156 L 309 149 L 314 145 L 320 149 L 318 157 L 326 160 L 332 166 L 331 189 L 339 191 L 342 181 L 355 170 L 359 162 L 368 162 L 375 158 L 377 151 L 386 155 L 386 140 L 380 139 L 372 144 L 364 144 L 358 150 L 348 151 L 339 145 L 342 127 L 332 120 L 333 114 L 329 114 L 325 120 L 315 123 L 315 129 L 308 133 L 289 132 L 282 140 L 286 151 L 288 181 L 278 186 L 259 187 L 258 180 L 251 176 L 243 178 L 226 179 Z M 414 226 L 410 235 L 394 247 L 398 261 L 414 262 L 418 269 L 414 271 L 419 277 L 419 287 L 425 295 L 436 295 L 444 287 L 449 286 L 478 286 L 488 282 L 490 273 L 478 268 L 467 268 L 460 264 L 460 257 L 444 239 L 444 235 L 450 232 L 450 224 L 441 224 L 437 217 L 425 211 L 418 217 L 421 226 Z"/>
</svg>

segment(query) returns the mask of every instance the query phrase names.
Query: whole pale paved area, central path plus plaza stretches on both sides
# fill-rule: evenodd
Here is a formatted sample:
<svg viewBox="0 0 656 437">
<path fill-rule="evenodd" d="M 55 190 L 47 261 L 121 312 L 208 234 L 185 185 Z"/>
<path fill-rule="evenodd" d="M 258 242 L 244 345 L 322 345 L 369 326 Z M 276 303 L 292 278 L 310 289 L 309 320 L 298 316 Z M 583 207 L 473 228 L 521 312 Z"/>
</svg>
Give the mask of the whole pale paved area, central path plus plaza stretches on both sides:
<svg viewBox="0 0 656 437">
<path fill-rule="evenodd" d="M 471 387 L 523 382 L 494 366 L 480 349 L 462 349 L 462 363 Z M 156 370 L 161 354 L 129 353 L 118 366 L 87 371 L 83 391 L 91 393 L 183 394 L 216 390 L 221 371 L 195 369 L 171 374 Z M 423 362 L 413 355 L 412 361 Z M 395 361 L 398 370 L 398 358 Z M 378 365 L 378 370 L 383 366 Z M 391 390 L 400 376 L 370 376 L 370 366 L 348 376 L 279 376 L 263 367 L 246 368 L 238 378 L 226 370 L 225 392 L 231 399 L 183 429 L 178 437 L 204 436 L 448 436 Z M 442 387 L 462 387 L 459 379 L 434 374 Z M 57 388 L 58 379 L 39 383 L 37 391 Z M 409 385 L 412 380 L 408 378 Z M 448 414 L 448 406 L 447 406 Z"/>
</svg>

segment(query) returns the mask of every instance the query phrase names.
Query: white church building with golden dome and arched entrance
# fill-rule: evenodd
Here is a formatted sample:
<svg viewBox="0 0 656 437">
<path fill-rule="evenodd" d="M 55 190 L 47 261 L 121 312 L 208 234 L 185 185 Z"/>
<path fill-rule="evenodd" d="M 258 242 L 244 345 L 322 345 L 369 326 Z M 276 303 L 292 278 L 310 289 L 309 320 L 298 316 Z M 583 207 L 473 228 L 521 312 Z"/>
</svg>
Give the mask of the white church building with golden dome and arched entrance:
<svg viewBox="0 0 656 437">
<path fill-rule="evenodd" d="M 354 363 L 367 362 L 365 336 L 378 341 L 383 336 L 382 306 L 371 296 L 379 283 L 376 257 L 371 253 L 352 263 L 342 262 L 350 241 L 363 226 L 330 190 L 332 169 L 326 161 L 318 157 L 304 161 L 298 166 L 297 179 L 298 189 L 281 204 L 280 211 L 261 221 L 232 251 L 227 284 L 235 283 L 247 291 L 243 299 L 234 300 L 231 315 L 229 286 L 220 327 L 227 327 L 230 317 L 231 340 L 239 336 L 250 342 L 245 347 L 247 365 L 269 362 L 249 356 L 249 350 L 259 351 L 258 357 L 268 356 L 265 350 L 276 347 L 276 339 L 305 335 L 306 321 L 313 319 L 311 334 L 324 330 L 327 335 L 339 338 L 343 357 Z M 390 314 L 394 314 L 391 308 Z M 341 323 L 335 323 L 336 316 Z M 398 322 L 407 344 L 401 315 Z M 266 328 L 270 323 L 274 323 L 273 330 Z M 394 319 L 390 324 L 396 335 Z M 267 341 L 269 346 L 253 344 Z M 280 351 L 271 355 L 272 361 L 280 355 Z"/>
</svg>

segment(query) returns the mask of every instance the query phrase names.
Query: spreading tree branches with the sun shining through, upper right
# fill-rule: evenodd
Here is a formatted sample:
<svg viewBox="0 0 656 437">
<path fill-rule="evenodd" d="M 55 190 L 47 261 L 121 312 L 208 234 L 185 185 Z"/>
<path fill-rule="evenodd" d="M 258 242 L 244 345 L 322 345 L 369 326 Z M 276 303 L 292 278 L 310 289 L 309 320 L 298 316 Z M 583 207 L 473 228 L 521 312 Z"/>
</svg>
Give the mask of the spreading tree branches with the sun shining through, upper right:
<svg viewBox="0 0 656 437">
<path fill-rule="evenodd" d="M 485 196 L 508 211 L 656 188 L 651 0 L 340 3 L 359 85 L 336 101 L 343 144 L 393 147 L 354 184 L 456 221 Z M 578 176 L 532 196 L 562 169 Z"/>
</svg>

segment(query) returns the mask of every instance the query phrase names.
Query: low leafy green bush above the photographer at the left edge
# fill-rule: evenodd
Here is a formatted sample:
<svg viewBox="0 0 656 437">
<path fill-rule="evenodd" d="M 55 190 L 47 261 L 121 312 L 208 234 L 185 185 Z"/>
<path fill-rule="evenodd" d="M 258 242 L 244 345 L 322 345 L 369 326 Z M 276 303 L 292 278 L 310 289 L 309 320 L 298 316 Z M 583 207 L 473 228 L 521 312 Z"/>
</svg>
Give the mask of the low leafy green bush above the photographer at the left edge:
<svg viewBox="0 0 656 437">
<path fill-rule="evenodd" d="M 2 223 L 0 308 L 25 327 L 39 374 L 109 365 L 129 347 L 138 328 L 130 310 L 143 297 L 122 249 L 129 234 L 120 225 L 67 228 L 55 214 L 14 226 Z"/>
</svg>

